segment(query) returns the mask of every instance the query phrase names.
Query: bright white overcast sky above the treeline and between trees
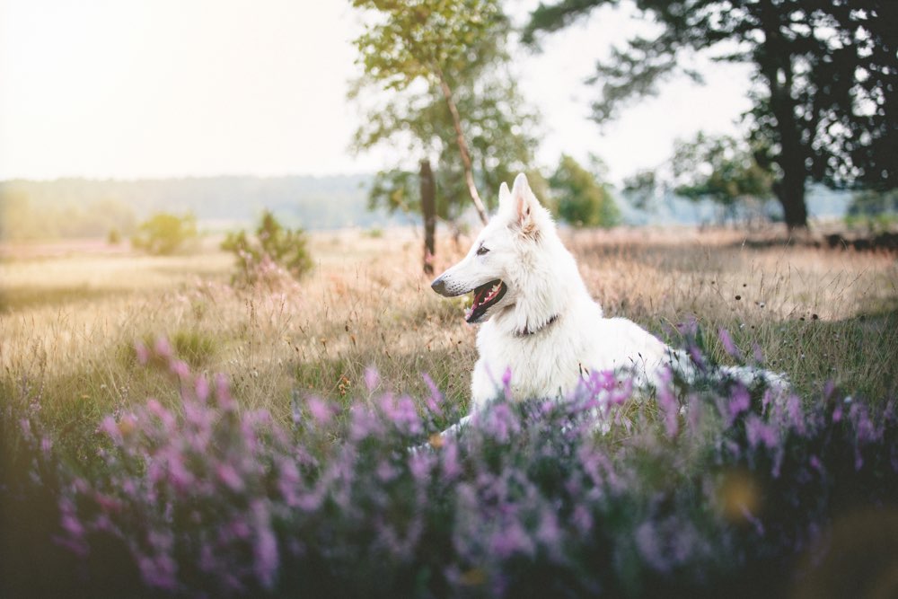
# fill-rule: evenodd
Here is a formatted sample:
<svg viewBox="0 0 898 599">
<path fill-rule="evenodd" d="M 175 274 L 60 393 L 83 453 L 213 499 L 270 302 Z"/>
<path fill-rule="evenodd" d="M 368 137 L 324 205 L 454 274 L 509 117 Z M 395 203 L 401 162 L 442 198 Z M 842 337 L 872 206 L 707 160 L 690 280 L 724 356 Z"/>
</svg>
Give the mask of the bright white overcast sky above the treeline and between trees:
<svg viewBox="0 0 898 599">
<path fill-rule="evenodd" d="M 523 22 L 535 5 L 510 0 Z M 603 159 L 620 182 L 697 130 L 735 133 L 745 66 L 700 60 L 706 85 L 665 84 L 600 128 L 594 61 L 646 25 L 603 9 L 515 52 L 541 113 L 538 167 Z M 374 172 L 401 156 L 348 150 L 360 73 L 346 0 L 0 0 L 0 180 Z"/>
</svg>

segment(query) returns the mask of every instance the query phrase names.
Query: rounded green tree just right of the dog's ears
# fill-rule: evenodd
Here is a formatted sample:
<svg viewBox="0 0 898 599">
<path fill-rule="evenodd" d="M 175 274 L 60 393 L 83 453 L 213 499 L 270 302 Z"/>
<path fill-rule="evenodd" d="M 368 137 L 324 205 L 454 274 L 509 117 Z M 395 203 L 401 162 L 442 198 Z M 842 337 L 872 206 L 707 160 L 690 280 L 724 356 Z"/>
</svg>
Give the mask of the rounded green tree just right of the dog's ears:
<svg viewBox="0 0 898 599">
<path fill-rule="evenodd" d="M 608 189 L 567 154 L 561 155 L 549 186 L 555 196 L 556 212 L 571 225 L 611 227 L 621 221 Z"/>
</svg>

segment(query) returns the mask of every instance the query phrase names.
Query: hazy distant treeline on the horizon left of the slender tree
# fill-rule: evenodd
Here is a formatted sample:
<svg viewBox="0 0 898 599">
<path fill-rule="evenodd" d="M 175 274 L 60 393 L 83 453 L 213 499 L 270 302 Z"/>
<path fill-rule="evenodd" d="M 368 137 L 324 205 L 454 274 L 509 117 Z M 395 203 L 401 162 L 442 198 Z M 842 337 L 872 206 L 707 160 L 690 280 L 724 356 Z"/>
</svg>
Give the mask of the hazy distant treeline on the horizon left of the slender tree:
<svg viewBox="0 0 898 599">
<path fill-rule="evenodd" d="M 0 238 L 133 233 L 158 212 L 192 213 L 200 228 L 248 224 L 269 209 L 307 230 L 407 223 L 367 209 L 368 175 L 210 177 L 138 181 L 58 179 L 0 182 Z"/>
</svg>

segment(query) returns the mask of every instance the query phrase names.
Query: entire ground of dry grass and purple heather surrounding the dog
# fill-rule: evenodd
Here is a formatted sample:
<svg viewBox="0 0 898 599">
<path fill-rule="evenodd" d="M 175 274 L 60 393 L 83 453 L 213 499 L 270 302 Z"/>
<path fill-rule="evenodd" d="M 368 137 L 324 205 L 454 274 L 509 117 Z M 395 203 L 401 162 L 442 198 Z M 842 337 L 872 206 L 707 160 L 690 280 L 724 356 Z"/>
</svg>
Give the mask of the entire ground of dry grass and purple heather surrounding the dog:
<svg viewBox="0 0 898 599">
<path fill-rule="evenodd" d="M 0 595 L 891 596 L 894 256 L 564 236 L 607 315 L 674 344 L 695 320 L 720 362 L 729 330 L 797 396 L 629 401 L 596 374 L 430 436 L 467 409 L 476 329 L 413 232 L 314 234 L 311 275 L 252 288 L 215 239 L 4 247 Z"/>
</svg>

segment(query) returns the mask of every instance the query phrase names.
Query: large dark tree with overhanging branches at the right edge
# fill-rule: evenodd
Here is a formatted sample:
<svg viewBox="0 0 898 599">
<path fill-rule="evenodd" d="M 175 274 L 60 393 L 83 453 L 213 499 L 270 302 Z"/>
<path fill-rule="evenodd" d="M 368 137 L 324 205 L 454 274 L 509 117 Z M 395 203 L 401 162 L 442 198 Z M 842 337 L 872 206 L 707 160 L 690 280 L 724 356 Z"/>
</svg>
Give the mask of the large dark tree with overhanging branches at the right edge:
<svg viewBox="0 0 898 599">
<path fill-rule="evenodd" d="M 616 0 L 557 0 L 531 14 L 524 40 L 557 31 Z M 898 186 L 898 3 L 891 0 L 637 0 L 660 25 L 653 38 L 614 48 L 597 66 L 597 121 L 622 101 L 656 92 L 687 73 L 681 58 L 709 51 L 755 68 L 748 116 L 757 156 L 790 229 L 807 225 L 807 181 L 878 190 Z"/>
</svg>

